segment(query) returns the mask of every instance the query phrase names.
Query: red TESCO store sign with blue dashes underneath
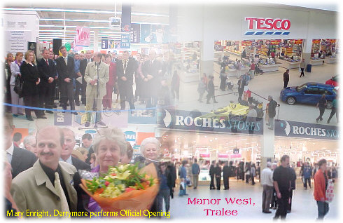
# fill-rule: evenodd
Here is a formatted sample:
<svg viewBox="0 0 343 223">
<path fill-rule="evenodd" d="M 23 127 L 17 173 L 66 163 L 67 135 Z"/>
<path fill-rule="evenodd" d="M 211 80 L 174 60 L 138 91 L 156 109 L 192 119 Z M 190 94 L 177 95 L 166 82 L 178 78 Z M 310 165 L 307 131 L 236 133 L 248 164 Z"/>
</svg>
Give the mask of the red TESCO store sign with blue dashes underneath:
<svg viewBox="0 0 343 223">
<path fill-rule="evenodd" d="M 247 30 L 244 36 L 288 36 L 290 34 L 290 20 L 284 18 L 246 17 L 242 26 L 242 31 Z"/>
</svg>

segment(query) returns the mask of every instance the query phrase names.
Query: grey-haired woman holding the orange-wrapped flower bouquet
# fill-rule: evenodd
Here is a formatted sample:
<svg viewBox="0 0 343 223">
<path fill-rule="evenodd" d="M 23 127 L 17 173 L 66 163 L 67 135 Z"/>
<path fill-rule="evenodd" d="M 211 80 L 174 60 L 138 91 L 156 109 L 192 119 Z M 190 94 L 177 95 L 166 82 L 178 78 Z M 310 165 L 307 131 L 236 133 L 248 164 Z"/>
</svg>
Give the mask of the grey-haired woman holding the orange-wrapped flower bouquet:
<svg viewBox="0 0 343 223">
<path fill-rule="evenodd" d="M 94 154 L 99 165 L 93 168 L 92 173 L 106 173 L 110 166 L 116 166 L 121 156 L 126 153 L 126 141 L 124 133 L 118 128 L 102 128 L 94 135 Z M 88 203 L 90 212 L 99 212 L 102 208 L 96 201 L 90 198 Z"/>
</svg>

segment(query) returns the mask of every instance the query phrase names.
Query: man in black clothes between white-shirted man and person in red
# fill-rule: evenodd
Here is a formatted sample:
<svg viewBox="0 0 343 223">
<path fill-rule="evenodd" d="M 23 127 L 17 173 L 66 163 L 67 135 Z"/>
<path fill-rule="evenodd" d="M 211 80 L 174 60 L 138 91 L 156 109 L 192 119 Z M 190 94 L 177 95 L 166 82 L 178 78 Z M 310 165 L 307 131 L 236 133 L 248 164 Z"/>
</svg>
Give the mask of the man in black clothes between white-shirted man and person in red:
<svg viewBox="0 0 343 223">
<path fill-rule="evenodd" d="M 274 216 L 274 219 L 286 219 L 288 202 L 290 198 L 290 185 L 293 179 L 293 175 L 290 171 L 289 165 L 289 156 L 283 155 L 281 157 L 281 165 L 274 170 L 273 180 L 274 188 L 276 191 L 277 197 L 277 210 Z"/>
</svg>

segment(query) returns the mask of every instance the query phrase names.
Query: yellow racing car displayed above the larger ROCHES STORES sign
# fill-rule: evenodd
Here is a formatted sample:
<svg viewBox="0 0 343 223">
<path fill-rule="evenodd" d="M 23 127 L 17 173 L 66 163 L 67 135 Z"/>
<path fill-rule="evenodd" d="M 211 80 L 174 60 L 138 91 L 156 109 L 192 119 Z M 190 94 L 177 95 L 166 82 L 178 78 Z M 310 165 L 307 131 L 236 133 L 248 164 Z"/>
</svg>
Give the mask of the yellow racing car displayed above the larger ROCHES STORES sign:
<svg viewBox="0 0 343 223">
<path fill-rule="evenodd" d="M 254 100 L 252 97 L 248 99 L 248 102 L 255 104 L 255 110 L 258 114 L 258 118 L 263 117 L 263 104 Z M 201 118 L 208 119 L 224 119 L 225 121 L 244 121 L 246 115 L 249 112 L 248 102 L 241 100 L 239 103 L 230 102 L 226 107 L 221 107 L 214 112 L 200 116 Z"/>
</svg>

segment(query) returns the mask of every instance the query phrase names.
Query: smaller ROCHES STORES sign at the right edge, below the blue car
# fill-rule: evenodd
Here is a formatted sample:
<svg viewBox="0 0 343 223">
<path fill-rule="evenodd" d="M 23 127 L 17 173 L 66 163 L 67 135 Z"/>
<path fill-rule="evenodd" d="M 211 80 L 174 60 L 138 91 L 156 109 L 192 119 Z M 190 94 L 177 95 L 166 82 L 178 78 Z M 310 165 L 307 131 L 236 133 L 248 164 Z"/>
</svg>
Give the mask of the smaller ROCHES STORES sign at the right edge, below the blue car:
<svg viewBox="0 0 343 223">
<path fill-rule="evenodd" d="M 274 123 L 275 136 L 339 140 L 339 129 L 337 126 L 325 126 L 285 120 L 275 120 Z"/>
</svg>

